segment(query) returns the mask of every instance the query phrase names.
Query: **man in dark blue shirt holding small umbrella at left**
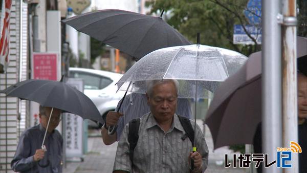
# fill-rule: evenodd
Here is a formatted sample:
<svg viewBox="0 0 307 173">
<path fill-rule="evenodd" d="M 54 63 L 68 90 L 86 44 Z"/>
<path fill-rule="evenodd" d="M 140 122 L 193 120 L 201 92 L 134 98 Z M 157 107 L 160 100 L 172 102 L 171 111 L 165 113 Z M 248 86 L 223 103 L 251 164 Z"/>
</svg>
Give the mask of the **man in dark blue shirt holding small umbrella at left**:
<svg viewBox="0 0 307 173">
<path fill-rule="evenodd" d="M 55 129 L 61 120 L 61 110 L 53 109 L 45 140 L 47 151 L 41 149 L 51 110 L 51 107 L 39 106 L 40 124 L 27 129 L 21 135 L 11 162 L 14 171 L 62 172 L 63 139 Z"/>
</svg>

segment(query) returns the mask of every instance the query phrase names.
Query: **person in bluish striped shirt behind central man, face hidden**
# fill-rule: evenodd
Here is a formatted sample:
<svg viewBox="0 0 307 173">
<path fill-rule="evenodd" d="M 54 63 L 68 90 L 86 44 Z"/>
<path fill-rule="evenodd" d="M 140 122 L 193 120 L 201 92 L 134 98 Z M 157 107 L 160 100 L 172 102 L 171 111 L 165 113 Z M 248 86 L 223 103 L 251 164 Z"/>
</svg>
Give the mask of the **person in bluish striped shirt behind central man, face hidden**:
<svg viewBox="0 0 307 173">
<path fill-rule="evenodd" d="M 133 101 L 133 104 L 130 103 L 130 100 Z M 121 100 L 117 105 L 117 109 L 120 103 Z M 178 99 L 177 104 L 178 107 L 176 113 L 190 118 L 192 112 L 189 100 L 181 98 Z M 110 111 L 106 115 L 106 122 L 101 129 L 103 143 L 106 145 L 111 145 L 115 141 L 119 141 L 124 125 L 127 124 L 130 120 L 140 118 L 142 115 L 148 112 L 150 112 L 150 109 L 147 104 L 147 98 L 145 94 L 131 93 L 127 95 L 123 101 L 119 113 Z M 124 113 L 124 116 L 122 113 Z M 118 124 L 118 128 L 116 129 L 115 134 L 109 135 L 107 133 L 108 126 L 114 126 L 115 124 Z"/>
</svg>

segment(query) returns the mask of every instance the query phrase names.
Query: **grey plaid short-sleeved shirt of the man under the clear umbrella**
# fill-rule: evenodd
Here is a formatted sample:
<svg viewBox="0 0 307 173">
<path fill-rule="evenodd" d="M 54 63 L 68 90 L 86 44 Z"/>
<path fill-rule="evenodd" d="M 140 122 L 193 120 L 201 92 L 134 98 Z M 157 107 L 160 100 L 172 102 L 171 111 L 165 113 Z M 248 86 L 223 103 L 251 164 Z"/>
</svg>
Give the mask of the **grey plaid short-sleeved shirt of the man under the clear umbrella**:
<svg viewBox="0 0 307 173">
<path fill-rule="evenodd" d="M 194 124 L 192 120 L 190 121 Z M 166 133 L 151 113 L 145 114 L 141 118 L 133 165 L 131 165 L 129 158 L 128 125 L 125 125 L 122 138 L 118 143 L 113 170 L 189 172 L 188 160 L 189 154 L 192 152 L 192 144 L 189 138 L 181 139 L 185 131 L 176 114 L 174 114 L 171 128 Z M 198 125 L 196 125 L 195 138 L 198 152 L 203 157 L 203 171 L 205 171 L 208 165 L 208 147 Z"/>
</svg>

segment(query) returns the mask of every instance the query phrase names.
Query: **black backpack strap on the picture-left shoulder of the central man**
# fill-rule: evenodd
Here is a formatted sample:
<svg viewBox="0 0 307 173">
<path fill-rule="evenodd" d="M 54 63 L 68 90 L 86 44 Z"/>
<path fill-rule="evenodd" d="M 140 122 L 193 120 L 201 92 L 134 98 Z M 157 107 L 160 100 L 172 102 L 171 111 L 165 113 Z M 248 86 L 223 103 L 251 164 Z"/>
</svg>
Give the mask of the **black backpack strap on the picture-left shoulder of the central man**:
<svg viewBox="0 0 307 173">
<path fill-rule="evenodd" d="M 129 142 L 129 157 L 131 163 L 133 162 L 134 149 L 137 146 L 139 140 L 139 127 L 140 127 L 140 118 L 129 121 L 128 142 Z"/>
</svg>

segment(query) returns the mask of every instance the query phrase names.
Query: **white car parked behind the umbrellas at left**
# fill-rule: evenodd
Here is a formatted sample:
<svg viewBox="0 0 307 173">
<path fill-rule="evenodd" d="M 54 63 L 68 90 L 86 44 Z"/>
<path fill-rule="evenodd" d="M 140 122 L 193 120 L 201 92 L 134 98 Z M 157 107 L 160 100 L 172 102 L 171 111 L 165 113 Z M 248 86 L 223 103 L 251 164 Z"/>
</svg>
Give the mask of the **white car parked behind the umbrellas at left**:
<svg viewBox="0 0 307 173">
<path fill-rule="evenodd" d="M 117 103 L 124 96 L 124 92 L 117 91 L 116 82 L 123 76 L 102 70 L 69 68 L 70 78 L 81 78 L 84 82 L 84 94 L 96 105 L 101 116 L 105 118 L 108 111 L 114 111 Z M 98 124 L 89 121 L 90 127 Z"/>
</svg>

